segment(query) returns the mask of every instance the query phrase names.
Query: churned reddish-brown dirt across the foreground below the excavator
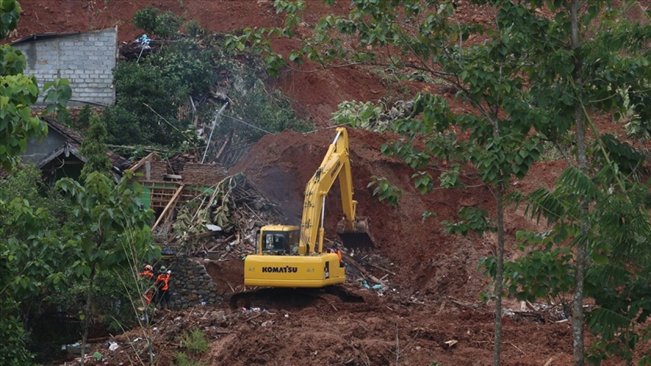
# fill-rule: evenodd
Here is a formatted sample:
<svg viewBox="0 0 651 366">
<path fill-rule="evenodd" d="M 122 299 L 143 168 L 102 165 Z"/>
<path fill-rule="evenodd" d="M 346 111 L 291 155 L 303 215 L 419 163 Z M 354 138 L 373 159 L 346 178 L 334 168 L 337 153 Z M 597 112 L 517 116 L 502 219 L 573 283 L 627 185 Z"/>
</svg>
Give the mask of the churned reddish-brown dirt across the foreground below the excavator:
<svg viewBox="0 0 651 366">
<path fill-rule="evenodd" d="M 206 354 L 192 356 L 206 365 L 488 365 L 492 359 L 493 317 L 481 306 L 457 300 L 403 306 L 354 284 L 340 292 L 362 301 L 348 302 L 326 289 L 271 292 L 258 293 L 258 303 L 275 299 L 272 307 L 197 306 L 155 317 L 156 365 L 173 365 L 176 352 L 187 352 L 181 339 L 194 329 L 210 339 Z M 552 365 L 571 363 L 568 323 L 505 318 L 504 329 L 503 365 L 543 365 L 551 358 Z M 91 352 L 103 359 L 87 364 L 146 362 L 144 339 L 145 333 L 132 330 L 93 345 Z M 112 343 L 118 348 L 109 350 Z"/>
</svg>

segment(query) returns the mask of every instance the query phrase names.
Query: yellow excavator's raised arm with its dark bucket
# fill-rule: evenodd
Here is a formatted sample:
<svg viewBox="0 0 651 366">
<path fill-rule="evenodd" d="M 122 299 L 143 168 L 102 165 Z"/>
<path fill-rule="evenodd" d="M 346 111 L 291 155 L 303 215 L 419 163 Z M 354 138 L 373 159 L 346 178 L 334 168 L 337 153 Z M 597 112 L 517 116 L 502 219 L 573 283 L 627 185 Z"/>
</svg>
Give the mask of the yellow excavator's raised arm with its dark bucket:
<svg viewBox="0 0 651 366">
<path fill-rule="evenodd" d="M 346 128 L 337 128 L 337 135 L 330 144 L 323 162 L 305 187 L 299 254 L 322 253 L 326 196 L 338 177 L 344 218 L 337 225 L 337 232 L 344 241 L 344 246 L 355 247 L 359 246 L 359 243 L 372 246 L 372 238 L 368 234 L 368 219 L 355 216 L 357 201 L 353 200 L 353 180 L 348 154 L 348 131 Z"/>
</svg>

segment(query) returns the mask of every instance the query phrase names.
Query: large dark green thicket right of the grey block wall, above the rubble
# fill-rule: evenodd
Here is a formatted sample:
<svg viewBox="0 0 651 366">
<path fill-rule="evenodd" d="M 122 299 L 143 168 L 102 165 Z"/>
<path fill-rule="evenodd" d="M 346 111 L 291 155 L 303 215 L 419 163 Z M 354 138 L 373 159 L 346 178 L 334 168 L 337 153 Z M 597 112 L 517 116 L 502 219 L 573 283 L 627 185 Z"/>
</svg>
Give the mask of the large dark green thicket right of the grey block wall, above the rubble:
<svg viewBox="0 0 651 366">
<path fill-rule="evenodd" d="M 139 63 L 123 61 L 115 69 L 117 104 L 102 116 L 111 145 L 165 145 L 173 150 L 201 146 L 193 117 L 210 126 L 220 106 L 201 103 L 217 88 L 230 101 L 214 139 L 232 130 L 253 141 L 285 129 L 307 132 L 312 126 L 296 117 L 289 101 L 262 83 L 266 77 L 250 55 L 223 53 L 223 40 L 186 23 L 191 36 L 176 35 L 173 43 Z M 187 113 L 193 97 L 196 113 Z"/>
</svg>

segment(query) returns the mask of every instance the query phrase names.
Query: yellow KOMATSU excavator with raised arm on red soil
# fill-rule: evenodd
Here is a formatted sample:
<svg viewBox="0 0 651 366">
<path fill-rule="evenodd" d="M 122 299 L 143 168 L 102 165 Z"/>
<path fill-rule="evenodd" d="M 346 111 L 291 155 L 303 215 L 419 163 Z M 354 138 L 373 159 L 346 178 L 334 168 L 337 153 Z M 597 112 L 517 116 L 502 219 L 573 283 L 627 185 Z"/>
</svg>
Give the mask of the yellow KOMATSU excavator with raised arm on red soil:
<svg viewBox="0 0 651 366">
<path fill-rule="evenodd" d="M 348 131 L 335 140 L 307 182 L 301 226 L 266 225 L 256 238 L 256 253 L 244 259 L 244 284 L 260 287 L 326 287 L 346 281 L 337 253 L 324 253 L 326 195 L 339 177 L 344 218 L 337 224 L 346 247 L 375 247 L 370 220 L 358 218 L 348 158 Z"/>
</svg>

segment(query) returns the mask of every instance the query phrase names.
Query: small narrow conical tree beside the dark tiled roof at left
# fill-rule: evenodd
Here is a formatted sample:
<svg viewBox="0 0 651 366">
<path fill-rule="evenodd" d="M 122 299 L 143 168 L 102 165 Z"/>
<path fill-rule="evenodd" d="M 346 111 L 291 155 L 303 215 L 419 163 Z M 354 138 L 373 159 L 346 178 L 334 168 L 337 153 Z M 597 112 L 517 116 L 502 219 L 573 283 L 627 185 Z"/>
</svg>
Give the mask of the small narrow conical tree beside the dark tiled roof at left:
<svg viewBox="0 0 651 366">
<path fill-rule="evenodd" d="M 86 160 L 81 169 L 80 180 L 86 180 L 87 176 L 94 171 L 104 175 L 108 175 L 109 171 L 111 171 L 111 160 L 106 155 L 108 149 L 104 145 L 105 138 L 106 128 L 104 122 L 97 115 L 92 115 L 90 117 L 90 128 L 79 149 L 79 152 Z"/>
</svg>

